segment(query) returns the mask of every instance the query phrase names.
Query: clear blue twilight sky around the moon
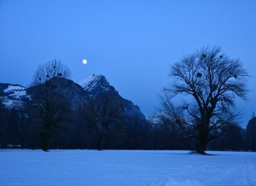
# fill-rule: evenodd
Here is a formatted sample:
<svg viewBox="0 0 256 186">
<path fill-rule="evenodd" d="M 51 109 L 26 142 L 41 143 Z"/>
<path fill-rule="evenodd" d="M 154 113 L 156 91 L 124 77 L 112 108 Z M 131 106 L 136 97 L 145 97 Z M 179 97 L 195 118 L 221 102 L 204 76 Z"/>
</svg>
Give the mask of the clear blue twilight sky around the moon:
<svg viewBox="0 0 256 186">
<path fill-rule="evenodd" d="M 75 82 L 105 75 L 148 117 L 170 66 L 218 46 L 249 72 L 248 98 L 237 105 L 246 125 L 256 112 L 255 9 L 254 0 L 0 0 L 0 82 L 27 86 L 39 64 L 58 59 Z"/>
</svg>

